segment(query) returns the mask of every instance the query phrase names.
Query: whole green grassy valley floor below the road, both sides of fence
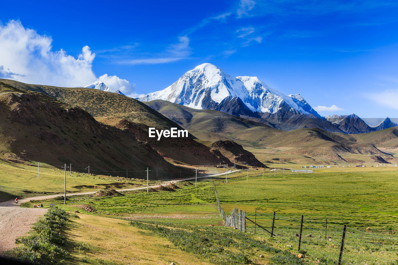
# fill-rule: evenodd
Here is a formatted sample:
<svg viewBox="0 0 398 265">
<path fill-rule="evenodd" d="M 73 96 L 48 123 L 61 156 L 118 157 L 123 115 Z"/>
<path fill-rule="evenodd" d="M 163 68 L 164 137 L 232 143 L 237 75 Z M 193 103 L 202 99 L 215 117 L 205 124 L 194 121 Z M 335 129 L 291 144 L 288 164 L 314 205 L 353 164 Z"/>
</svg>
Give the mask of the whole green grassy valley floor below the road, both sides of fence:
<svg viewBox="0 0 398 265">
<path fill-rule="evenodd" d="M 283 168 L 281 164 L 273 166 Z M 307 165 L 292 165 L 299 169 L 303 166 Z M 252 264 L 337 264 L 342 229 L 346 224 L 343 264 L 396 264 L 397 171 L 396 167 L 387 165 L 369 165 L 366 168 L 348 165 L 342 168 L 342 165 L 333 165 L 331 168 L 318 168 L 315 173 L 291 173 L 286 169 L 283 174 L 283 169 L 275 172 L 267 169 L 264 170 L 263 179 L 262 170 L 259 169 L 249 170 L 248 178 L 247 171 L 228 174 L 228 184 L 225 184 L 225 176 L 219 176 L 201 179 L 197 187 L 192 185 L 192 182 L 178 183 L 180 188 L 175 187 L 175 191 L 122 192 L 115 197 L 73 196 L 68 197 L 66 205 L 56 199 L 41 203 L 46 207 L 53 203 L 68 211 L 78 210 L 84 213 L 84 216 L 92 216 L 92 222 L 97 217 L 134 220 L 139 222 L 135 223 L 137 228 L 148 230 L 152 236 L 166 237 L 171 242 L 176 238 L 166 236 L 167 229 L 180 229 L 187 234 L 174 235 L 180 236 L 181 240 L 176 240 L 173 244 L 185 250 L 186 246 L 181 245 L 184 238 L 196 240 L 195 238 L 202 235 L 202 238 L 209 241 L 199 240 L 201 243 L 197 244 L 203 244 L 206 248 L 208 244 L 221 244 L 217 243 L 216 239 L 225 236 L 228 240 L 239 243 L 235 251 L 241 251 L 248 259 L 247 262 Z M 254 235 L 254 225 L 248 220 L 248 233 L 244 234 L 245 238 L 236 238 L 236 230 L 232 228 L 222 228 L 223 220 L 215 203 L 213 181 L 226 212 L 230 212 L 234 207 L 240 208 L 246 211 L 248 218 L 256 218 L 256 222 L 271 230 L 275 211 L 276 236 L 271 238 L 260 228 L 256 229 Z M 33 203 L 35 202 L 22 206 L 31 207 Z M 94 211 L 86 212 L 81 208 L 82 205 L 90 205 Z M 305 253 L 305 259 L 298 261 L 291 258 L 299 253 L 298 237 L 295 234 L 300 232 L 301 215 L 304 215 L 301 252 Z M 327 239 L 324 228 L 326 218 Z M 167 228 L 166 232 L 158 230 L 158 226 Z M 369 230 L 366 229 L 368 227 Z M 246 240 L 256 242 L 248 243 Z M 265 249 L 259 249 L 258 242 L 261 242 Z M 88 243 L 92 244 L 90 240 Z M 241 244 L 250 247 L 242 250 Z M 98 247 L 110 249 L 112 253 L 118 251 L 107 248 L 105 242 L 99 243 Z M 210 263 L 228 264 L 228 261 L 239 259 L 234 256 L 233 251 L 228 252 L 231 248 L 223 245 L 220 247 L 225 249 L 225 253 L 229 253 L 224 261 L 215 262 L 215 257 L 219 254 L 213 248 L 210 248 L 207 254 L 195 255 Z M 264 257 L 259 258 L 259 254 L 263 254 Z M 88 264 L 98 263 L 90 261 Z"/>
</svg>

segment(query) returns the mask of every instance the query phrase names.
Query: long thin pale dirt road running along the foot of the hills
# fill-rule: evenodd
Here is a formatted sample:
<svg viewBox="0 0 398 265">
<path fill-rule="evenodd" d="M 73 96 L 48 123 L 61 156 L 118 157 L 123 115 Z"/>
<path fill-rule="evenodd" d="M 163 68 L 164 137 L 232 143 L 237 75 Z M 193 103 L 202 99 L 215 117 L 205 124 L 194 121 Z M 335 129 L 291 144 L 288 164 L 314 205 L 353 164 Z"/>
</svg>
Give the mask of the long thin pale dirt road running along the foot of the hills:
<svg viewBox="0 0 398 265">
<path fill-rule="evenodd" d="M 232 172 L 228 172 L 228 173 L 234 173 L 234 172 L 238 172 L 241 170 L 232 170 Z M 216 177 L 216 176 L 220 176 L 220 175 L 225 175 L 226 172 L 224 173 L 219 173 L 219 174 L 205 174 L 205 175 L 201 175 L 198 176 L 198 179 L 204 178 L 204 177 Z M 162 185 L 167 185 L 169 183 L 177 183 L 179 181 L 187 181 L 187 180 L 193 180 L 195 179 L 195 177 L 187 177 L 184 179 L 173 179 L 173 180 L 168 180 L 168 181 L 164 181 Z M 151 185 L 149 186 L 150 188 L 156 188 L 159 185 Z M 146 186 L 144 187 L 138 187 L 138 188 L 129 188 L 129 189 L 117 189 L 116 191 L 137 191 L 139 189 L 146 189 Z M 97 191 L 88 191 L 88 192 L 78 192 L 78 193 L 66 193 L 66 197 L 68 196 L 74 196 L 74 195 L 88 195 L 88 194 L 94 194 Z M 10 200 L 10 201 L 4 201 L 0 203 L 0 207 L 4 206 L 4 207 L 20 207 L 20 203 L 25 203 L 31 200 L 46 200 L 46 199 L 52 199 L 55 197 L 59 197 L 62 196 L 62 194 L 54 194 L 54 195 L 44 195 L 44 196 L 37 196 L 37 197 L 30 197 L 30 198 L 25 198 L 25 199 L 18 199 L 19 203 L 16 204 L 14 203 L 14 200 Z"/>
</svg>

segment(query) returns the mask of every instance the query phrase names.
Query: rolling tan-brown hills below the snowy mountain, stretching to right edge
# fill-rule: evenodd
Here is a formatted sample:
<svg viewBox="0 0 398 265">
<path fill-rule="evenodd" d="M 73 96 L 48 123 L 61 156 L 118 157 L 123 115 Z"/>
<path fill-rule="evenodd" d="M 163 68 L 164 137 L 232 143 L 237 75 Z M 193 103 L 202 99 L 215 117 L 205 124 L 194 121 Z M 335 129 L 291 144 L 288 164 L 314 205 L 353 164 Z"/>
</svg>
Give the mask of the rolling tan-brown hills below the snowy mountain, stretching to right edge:
<svg viewBox="0 0 398 265">
<path fill-rule="evenodd" d="M 392 147 L 395 140 L 395 144 L 398 144 L 398 137 L 393 132 L 386 136 L 382 136 L 383 131 L 374 132 L 380 136 L 372 138 L 368 134 L 330 133 L 318 128 L 281 131 L 220 111 L 192 109 L 163 100 L 149 101 L 146 104 L 189 129 L 207 145 L 210 146 L 217 140 L 232 140 L 252 152 L 261 162 L 357 163 L 363 160 L 373 161 L 371 157 L 376 156 L 395 159 L 389 150 L 383 151 L 377 146 L 384 142 L 383 137 L 392 141 Z M 362 139 L 361 136 L 365 138 Z M 375 139 L 380 141 L 373 141 Z"/>
</svg>

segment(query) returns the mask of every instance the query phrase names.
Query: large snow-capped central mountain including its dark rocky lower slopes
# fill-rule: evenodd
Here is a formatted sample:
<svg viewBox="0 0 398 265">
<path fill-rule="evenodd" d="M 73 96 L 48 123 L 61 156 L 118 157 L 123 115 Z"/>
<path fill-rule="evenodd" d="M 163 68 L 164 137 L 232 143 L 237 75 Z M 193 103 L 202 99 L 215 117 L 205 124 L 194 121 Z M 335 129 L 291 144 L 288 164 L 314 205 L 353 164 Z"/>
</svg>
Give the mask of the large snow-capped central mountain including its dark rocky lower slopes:
<svg viewBox="0 0 398 265">
<path fill-rule="evenodd" d="M 285 95 L 257 77 L 233 77 L 209 63 L 186 72 L 164 90 L 139 98 L 140 101 L 156 99 L 194 109 L 223 111 L 287 131 L 318 127 L 342 132 L 320 117 L 300 94 Z"/>
</svg>

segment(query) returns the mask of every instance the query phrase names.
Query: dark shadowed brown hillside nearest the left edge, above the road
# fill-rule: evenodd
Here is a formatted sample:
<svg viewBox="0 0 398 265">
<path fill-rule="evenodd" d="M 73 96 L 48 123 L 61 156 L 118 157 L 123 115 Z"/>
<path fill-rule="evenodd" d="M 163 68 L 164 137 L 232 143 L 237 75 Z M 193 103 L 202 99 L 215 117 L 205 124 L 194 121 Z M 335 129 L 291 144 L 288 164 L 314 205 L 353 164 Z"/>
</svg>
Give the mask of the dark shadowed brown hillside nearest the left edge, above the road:
<svg viewBox="0 0 398 265">
<path fill-rule="evenodd" d="M 79 107 L 3 82 L 0 138 L 0 159 L 10 162 L 38 161 L 58 168 L 63 163 L 72 163 L 76 168 L 90 165 L 90 172 L 97 174 L 107 173 L 109 168 L 144 172 L 150 167 L 170 173 L 180 170 L 148 142 L 99 123 Z"/>
</svg>

